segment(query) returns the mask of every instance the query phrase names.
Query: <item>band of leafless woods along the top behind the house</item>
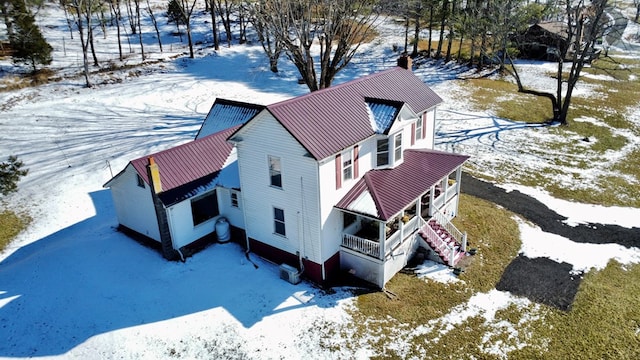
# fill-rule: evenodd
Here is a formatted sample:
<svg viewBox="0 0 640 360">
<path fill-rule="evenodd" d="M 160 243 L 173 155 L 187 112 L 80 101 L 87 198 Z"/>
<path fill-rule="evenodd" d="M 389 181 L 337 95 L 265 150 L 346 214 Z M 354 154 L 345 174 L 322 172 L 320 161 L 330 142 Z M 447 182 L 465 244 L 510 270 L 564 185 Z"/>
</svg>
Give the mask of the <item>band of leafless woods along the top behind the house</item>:
<svg viewBox="0 0 640 360">
<path fill-rule="evenodd" d="M 249 38 L 259 41 L 269 59 L 270 69 L 278 71 L 282 55 L 300 73 L 300 81 L 311 91 L 331 85 L 335 75 L 347 66 L 361 44 L 375 38 L 376 26 L 382 19 L 401 22 L 404 46 L 398 52 L 412 57 L 423 56 L 465 63 L 478 69 L 499 66 L 517 80 L 519 91 L 551 100 L 554 119 L 565 122 L 573 86 L 584 64 L 594 57 L 595 46 L 610 26 L 603 16 L 607 0 L 0 0 L 8 38 L 8 51 L 15 63 L 37 66 L 51 63 L 51 46 L 47 44 L 35 22 L 43 6 L 64 9 L 72 39 L 82 48 L 84 77 L 92 86 L 90 74 L 101 66 L 94 41 L 96 32 L 103 36 L 107 28 L 115 28 L 122 61 L 123 41 L 141 60 L 146 59 L 143 34 L 153 31 L 162 52 L 159 23 L 176 26 L 182 39 L 186 33 L 189 56 L 193 58 L 192 21 L 194 14 L 210 14 L 212 43 L 198 44 L 220 50 Z M 635 0 L 634 0 L 635 1 Z M 640 11 L 640 2 L 633 3 Z M 611 16 L 609 16 L 610 18 Z M 559 25 L 551 42 L 524 36 L 534 24 L 555 22 Z M 142 24 L 146 26 L 142 26 Z M 152 24 L 153 26 L 148 26 Z M 548 28 L 548 27 L 547 27 Z M 152 30 L 150 30 L 152 29 Z M 606 44 L 604 44 L 606 45 Z M 317 48 L 316 48 L 317 47 Z M 319 48 L 319 55 L 316 50 Z M 558 86 L 554 93 L 526 89 L 519 81 L 511 59 L 541 49 L 546 57 L 558 61 Z M 4 49 L 3 49 L 4 50 Z M 545 52 L 546 51 L 546 52 Z M 534 53 L 534 52 L 531 52 Z M 115 55 L 115 54 L 114 54 Z M 115 57 L 115 56 L 114 56 Z M 568 79 L 563 76 L 563 63 L 573 66 Z M 563 84 L 566 92 L 563 94 Z M 568 86 L 567 86 L 568 84 Z"/>
</svg>

